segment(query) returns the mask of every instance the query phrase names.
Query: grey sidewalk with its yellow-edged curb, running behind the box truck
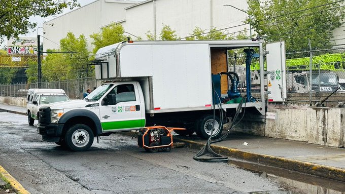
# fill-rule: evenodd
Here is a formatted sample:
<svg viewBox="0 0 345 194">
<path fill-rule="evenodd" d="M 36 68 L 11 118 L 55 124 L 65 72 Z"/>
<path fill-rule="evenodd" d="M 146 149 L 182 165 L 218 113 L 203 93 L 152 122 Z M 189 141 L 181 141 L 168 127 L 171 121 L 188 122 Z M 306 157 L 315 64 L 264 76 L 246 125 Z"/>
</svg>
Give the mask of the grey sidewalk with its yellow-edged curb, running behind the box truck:
<svg viewBox="0 0 345 194">
<path fill-rule="evenodd" d="M 26 108 L 20 106 L 0 104 L 0 110 L 26 115 Z M 196 135 L 174 136 L 174 141 L 196 149 L 206 142 Z M 246 134 L 230 134 L 212 148 L 231 158 L 345 182 L 345 148 Z"/>
</svg>

